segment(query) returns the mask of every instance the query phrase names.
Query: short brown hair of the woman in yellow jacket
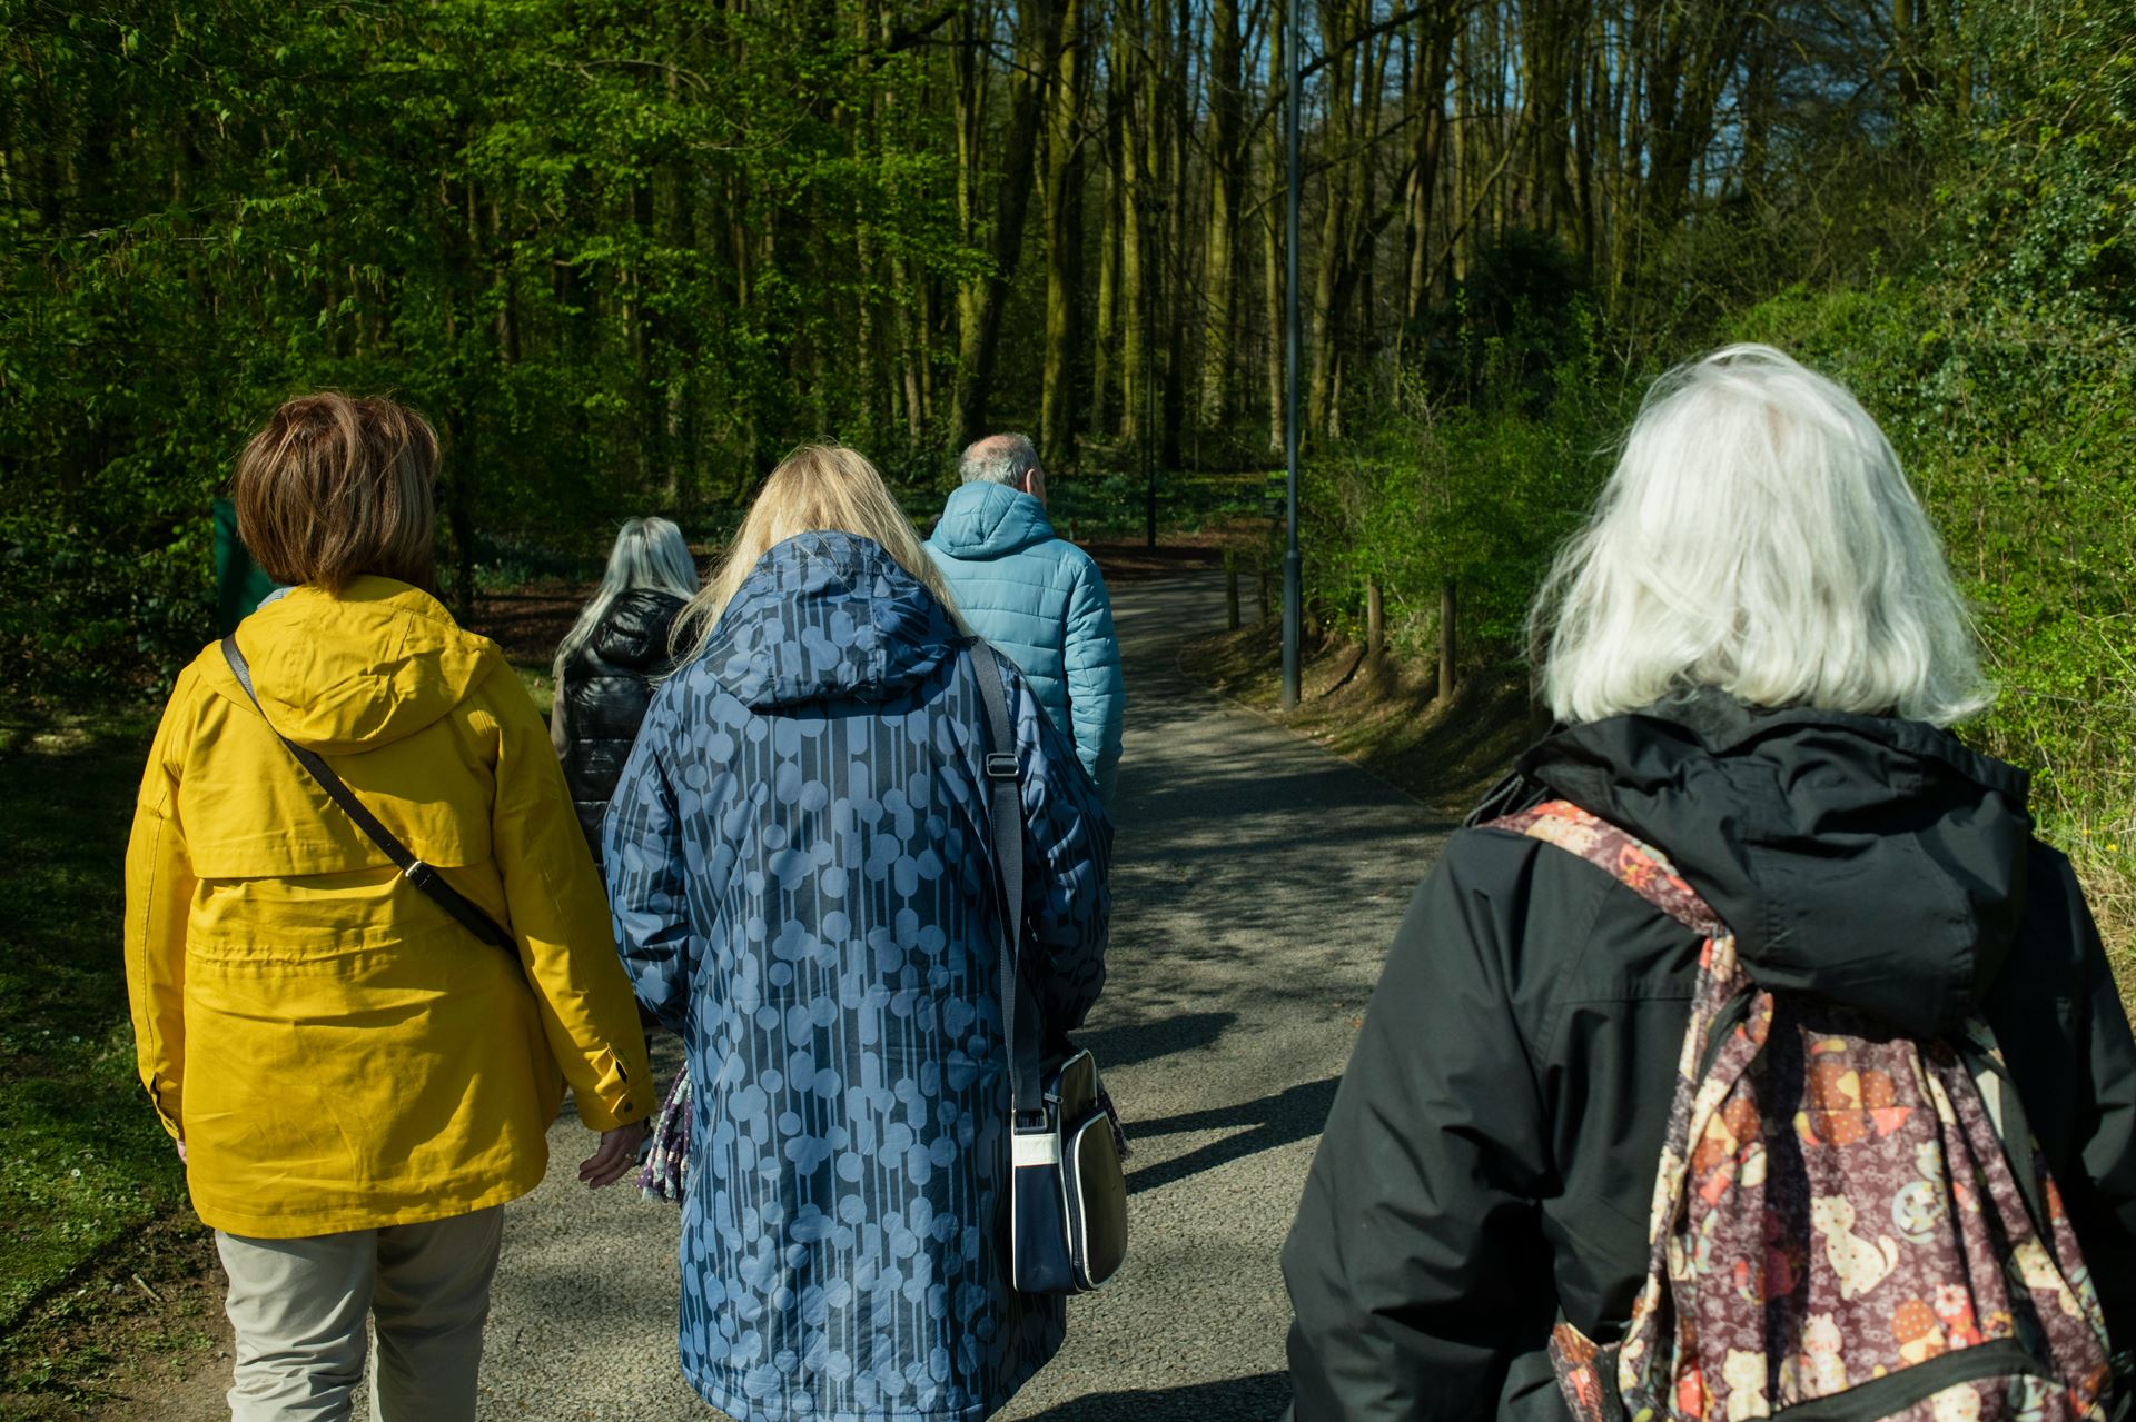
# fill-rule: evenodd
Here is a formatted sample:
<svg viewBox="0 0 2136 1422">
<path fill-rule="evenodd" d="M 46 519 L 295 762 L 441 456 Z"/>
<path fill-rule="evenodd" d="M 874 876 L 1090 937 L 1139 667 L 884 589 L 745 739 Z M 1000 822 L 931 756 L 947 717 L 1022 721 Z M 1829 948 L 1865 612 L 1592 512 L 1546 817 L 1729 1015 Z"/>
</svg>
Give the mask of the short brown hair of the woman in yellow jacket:
<svg viewBox="0 0 2136 1422">
<path fill-rule="evenodd" d="M 438 431 L 391 399 L 299 395 L 246 442 L 237 536 L 276 583 L 376 574 L 436 591 Z"/>
</svg>

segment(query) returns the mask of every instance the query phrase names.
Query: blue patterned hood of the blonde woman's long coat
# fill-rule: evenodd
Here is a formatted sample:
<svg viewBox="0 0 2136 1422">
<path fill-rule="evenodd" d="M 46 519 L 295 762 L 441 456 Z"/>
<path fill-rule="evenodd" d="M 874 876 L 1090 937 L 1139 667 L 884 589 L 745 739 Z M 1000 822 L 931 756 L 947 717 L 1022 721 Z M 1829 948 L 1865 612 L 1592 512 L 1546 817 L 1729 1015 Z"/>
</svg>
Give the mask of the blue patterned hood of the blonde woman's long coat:
<svg viewBox="0 0 2136 1422">
<path fill-rule="evenodd" d="M 720 615 L 705 664 L 756 711 L 886 700 L 965 643 L 942 600 L 874 538 L 799 534 L 765 553 Z"/>
</svg>

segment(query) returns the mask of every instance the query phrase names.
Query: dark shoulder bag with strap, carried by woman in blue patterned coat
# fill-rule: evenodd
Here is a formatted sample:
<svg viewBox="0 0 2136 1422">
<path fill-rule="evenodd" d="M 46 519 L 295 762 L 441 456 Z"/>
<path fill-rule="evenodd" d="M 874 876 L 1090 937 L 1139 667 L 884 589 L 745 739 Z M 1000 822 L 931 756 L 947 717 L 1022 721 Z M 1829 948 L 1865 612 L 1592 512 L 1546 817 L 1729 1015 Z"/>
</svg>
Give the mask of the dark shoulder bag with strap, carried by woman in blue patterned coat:
<svg viewBox="0 0 2136 1422">
<path fill-rule="evenodd" d="M 1070 1050 L 1045 1063 L 1038 995 L 1017 971 L 1023 952 L 1023 794 L 1017 734 L 993 647 L 972 638 L 987 707 L 993 863 L 1002 886 L 1002 1046 L 1010 1080 L 1010 1283 L 1023 1294 L 1083 1294 L 1128 1258 L 1128 1176 L 1098 1085 L 1098 1061 Z M 1042 715 L 1042 713 L 1040 713 Z M 1051 1065 L 1051 1070 L 1049 1070 Z"/>
</svg>

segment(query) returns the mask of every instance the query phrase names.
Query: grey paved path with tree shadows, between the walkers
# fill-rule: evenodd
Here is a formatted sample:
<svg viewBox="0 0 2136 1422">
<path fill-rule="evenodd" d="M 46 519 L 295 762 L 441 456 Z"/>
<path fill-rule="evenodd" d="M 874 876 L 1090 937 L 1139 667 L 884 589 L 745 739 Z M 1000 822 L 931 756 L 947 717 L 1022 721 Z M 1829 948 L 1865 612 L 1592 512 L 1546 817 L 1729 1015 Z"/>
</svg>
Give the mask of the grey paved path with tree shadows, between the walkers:
<svg viewBox="0 0 2136 1422">
<path fill-rule="evenodd" d="M 1004 1418 L 1282 1411 L 1277 1247 L 1352 1023 L 1444 835 L 1378 779 L 1188 685 L 1177 643 L 1222 615 L 1211 576 L 1117 591 L 1130 696 L 1117 912 L 1081 1040 L 1134 1140 L 1130 1262 L 1068 1305 L 1068 1345 Z M 675 1213 L 628 1187 L 577 1187 L 592 1138 L 575 1119 L 549 1140 L 549 1181 L 506 1211 L 485 1422 L 716 1418 L 675 1366 Z"/>
</svg>

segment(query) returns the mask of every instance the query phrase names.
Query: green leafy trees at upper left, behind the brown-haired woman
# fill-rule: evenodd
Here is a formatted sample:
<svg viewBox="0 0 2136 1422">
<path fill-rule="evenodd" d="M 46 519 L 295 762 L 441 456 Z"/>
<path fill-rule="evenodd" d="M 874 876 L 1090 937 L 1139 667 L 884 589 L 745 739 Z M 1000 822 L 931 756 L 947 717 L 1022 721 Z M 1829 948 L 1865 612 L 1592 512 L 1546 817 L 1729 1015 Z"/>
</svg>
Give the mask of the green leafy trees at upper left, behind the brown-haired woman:
<svg viewBox="0 0 2136 1422">
<path fill-rule="evenodd" d="M 824 21 L 829 23 L 829 21 Z M 442 429 L 446 568 L 731 506 L 871 444 L 850 339 L 953 280 L 912 53 L 778 9 L 0 0 L 0 690 L 167 679 L 207 634 L 207 500 L 276 401 Z M 857 115 L 880 109 L 871 122 Z M 899 433 L 899 442 L 904 436 Z"/>
</svg>

